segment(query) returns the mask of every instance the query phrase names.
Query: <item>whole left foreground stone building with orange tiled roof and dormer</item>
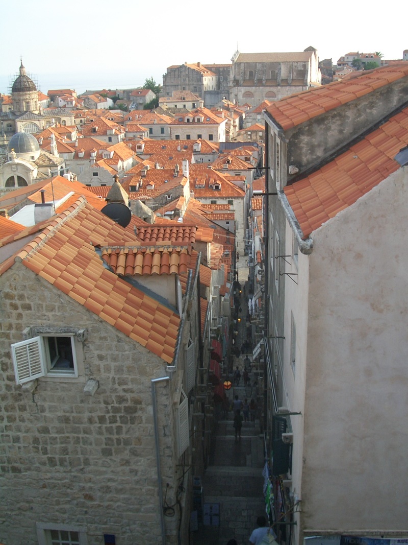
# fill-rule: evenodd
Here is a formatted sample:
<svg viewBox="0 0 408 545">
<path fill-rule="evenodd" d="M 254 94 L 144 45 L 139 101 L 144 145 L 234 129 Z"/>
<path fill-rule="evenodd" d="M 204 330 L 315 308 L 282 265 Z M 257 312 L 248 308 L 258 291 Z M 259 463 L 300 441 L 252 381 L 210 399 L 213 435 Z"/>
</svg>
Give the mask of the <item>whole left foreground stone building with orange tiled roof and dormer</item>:
<svg viewBox="0 0 408 545">
<path fill-rule="evenodd" d="M 22 233 L 0 264 L 0 541 L 187 543 L 209 354 L 195 227 L 121 227 L 79 198 Z"/>
</svg>

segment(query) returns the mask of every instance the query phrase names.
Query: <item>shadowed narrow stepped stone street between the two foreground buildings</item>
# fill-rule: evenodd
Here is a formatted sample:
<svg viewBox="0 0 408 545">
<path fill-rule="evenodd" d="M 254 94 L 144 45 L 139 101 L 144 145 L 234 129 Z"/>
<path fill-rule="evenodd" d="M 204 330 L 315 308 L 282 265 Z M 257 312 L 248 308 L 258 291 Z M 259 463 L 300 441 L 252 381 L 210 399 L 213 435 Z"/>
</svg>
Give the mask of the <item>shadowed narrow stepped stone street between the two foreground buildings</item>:
<svg viewBox="0 0 408 545">
<path fill-rule="evenodd" d="M 248 269 L 247 269 L 248 270 Z M 236 346 L 246 340 L 245 279 L 243 286 L 241 321 L 238 323 Z M 255 340 L 252 340 L 254 343 Z M 252 351 L 249 352 L 250 359 Z M 244 369 L 245 354 L 234 356 L 233 368 Z M 227 367 L 227 366 L 225 366 Z M 222 381 L 228 379 L 232 387 L 227 391 L 230 406 L 238 395 L 240 401 L 254 399 L 262 407 L 262 377 L 257 365 L 249 374 L 251 386 L 244 386 L 243 377 L 239 385 L 230 374 L 224 374 Z M 263 498 L 264 439 L 260 426 L 261 410 L 256 411 L 255 421 L 243 422 L 241 439 L 235 438 L 233 411 L 222 414 L 221 407 L 216 412 L 215 431 L 211 440 L 209 464 L 203 476 L 202 504 L 203 516 L 198 530 L 190 534 L 191 545 L 226 545 L 234 538 L 238 545 L 248 545 L 252 530 L 256 528 L 256 518 L 265 513 Z"/>
</svg>

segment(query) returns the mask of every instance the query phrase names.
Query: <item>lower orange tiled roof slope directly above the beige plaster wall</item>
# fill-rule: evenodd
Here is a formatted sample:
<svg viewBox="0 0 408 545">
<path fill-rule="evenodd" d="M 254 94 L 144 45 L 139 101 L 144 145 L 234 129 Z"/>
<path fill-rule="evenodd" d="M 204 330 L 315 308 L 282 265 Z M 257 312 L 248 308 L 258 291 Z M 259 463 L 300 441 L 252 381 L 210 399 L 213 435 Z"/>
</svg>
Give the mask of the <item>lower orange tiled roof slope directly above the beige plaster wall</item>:
<svg viewBox="0 0 408 545">
<path fill-rule="evenodd" d="M 405 108 L 329 164 L 285 187 L 304 238 L 397 171 L 394 157 L 407 144 Z"/>
</svg>

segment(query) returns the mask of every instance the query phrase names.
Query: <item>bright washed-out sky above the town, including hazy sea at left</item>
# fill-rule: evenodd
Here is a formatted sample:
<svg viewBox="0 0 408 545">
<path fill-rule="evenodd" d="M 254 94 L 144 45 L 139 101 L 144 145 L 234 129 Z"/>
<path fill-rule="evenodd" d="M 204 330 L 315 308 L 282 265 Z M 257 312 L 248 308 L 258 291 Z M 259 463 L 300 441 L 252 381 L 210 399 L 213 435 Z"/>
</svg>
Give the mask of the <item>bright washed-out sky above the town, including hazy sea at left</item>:
<svg viewBox="0 0 408 545">
<path fill-rule="evenodd" d="M 408 49 L 401 3 L 258 0 L 19 0 L 2 3 L 0 93 L 20 57 L 38 88 L 115 89 L 163 83 L 166 67 L 230 63 L 234 52 L 296 52 L 313 46 L 333 63 L 350 51 L 401 59 Z M 18 6 L 18 11 L 17 11 Z M 343 8 L 342 8 L 343 6 Z M 344 6 L 347 9 L 344 9 Z M 383 13 L 383 11 L 385 13 Z M 392 22 L 391 22 L 392 20 Z"/>
</svg>

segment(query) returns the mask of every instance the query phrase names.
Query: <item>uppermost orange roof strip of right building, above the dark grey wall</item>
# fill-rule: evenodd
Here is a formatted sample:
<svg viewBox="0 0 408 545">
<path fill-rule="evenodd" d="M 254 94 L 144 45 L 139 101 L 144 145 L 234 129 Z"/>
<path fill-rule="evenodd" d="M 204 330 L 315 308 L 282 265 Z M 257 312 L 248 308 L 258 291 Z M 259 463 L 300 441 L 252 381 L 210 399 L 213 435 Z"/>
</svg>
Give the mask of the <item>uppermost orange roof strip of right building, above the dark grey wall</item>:
<svg viewBox="0 0 408 545">
<path fill-rule="evenodd" d="M 362 72 L 353 80 L 335 81 L 316 89 L 290 95 L 273 102 L 266 111 L 282 129 L 287 130 L 406 76 L 408 76 L 407 63 L 385 66 Z"/>
</svg>

